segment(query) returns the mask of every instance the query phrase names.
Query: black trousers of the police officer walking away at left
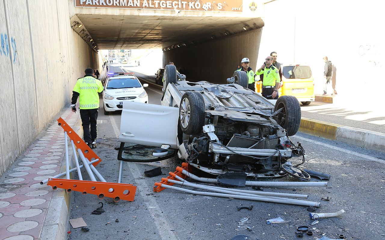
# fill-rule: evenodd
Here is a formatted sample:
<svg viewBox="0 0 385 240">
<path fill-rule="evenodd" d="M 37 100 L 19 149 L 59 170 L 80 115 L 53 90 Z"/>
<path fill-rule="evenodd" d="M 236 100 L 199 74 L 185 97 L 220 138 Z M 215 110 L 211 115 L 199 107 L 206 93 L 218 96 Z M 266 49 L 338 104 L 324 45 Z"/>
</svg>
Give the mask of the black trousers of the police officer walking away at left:
<svg viewBox="0 0 385 240">
<path fill-rule="evenodd" d="M 83 126 L 83 139 L 88 144 L 94 142 L 97 137 L 96 120 L 99 108 L 79 109 Z M 90 131 L 91 125 L 91 131 Z"/>
</svg>

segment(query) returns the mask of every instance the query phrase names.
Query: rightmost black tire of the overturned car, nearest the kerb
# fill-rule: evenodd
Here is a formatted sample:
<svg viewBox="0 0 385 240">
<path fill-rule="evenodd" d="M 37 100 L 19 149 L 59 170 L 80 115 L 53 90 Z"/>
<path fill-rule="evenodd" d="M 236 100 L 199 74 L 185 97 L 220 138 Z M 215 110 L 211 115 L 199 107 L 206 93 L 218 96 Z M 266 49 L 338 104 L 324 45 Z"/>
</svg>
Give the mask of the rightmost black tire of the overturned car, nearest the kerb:
<svg viewBox="0 0 385 240">
<path fill-rule="evenodd" d="M 283 108 L 277 114 L 276 121 L 286 129 L 288 136 L 293 136 L 298 132 L 301 124 L 301 107 L 298 99 L 294 96 L 281 96 L 278 98 L 274 111 Z"/>
</svg>

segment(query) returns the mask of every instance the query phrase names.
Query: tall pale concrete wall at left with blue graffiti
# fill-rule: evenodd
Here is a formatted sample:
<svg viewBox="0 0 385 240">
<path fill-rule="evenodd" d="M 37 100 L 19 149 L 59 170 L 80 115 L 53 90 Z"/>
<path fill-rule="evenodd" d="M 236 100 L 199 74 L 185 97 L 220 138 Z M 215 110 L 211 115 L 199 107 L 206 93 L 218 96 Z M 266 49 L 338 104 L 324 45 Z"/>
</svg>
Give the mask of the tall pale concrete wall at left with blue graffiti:
<svg viewBox="0 0 385 240">
<path fill-rule="evenodd" d="M 67 1 L 0 1 L 0 175 L 70 102 L 101 58 L 70 28 Z"/>
</svg>

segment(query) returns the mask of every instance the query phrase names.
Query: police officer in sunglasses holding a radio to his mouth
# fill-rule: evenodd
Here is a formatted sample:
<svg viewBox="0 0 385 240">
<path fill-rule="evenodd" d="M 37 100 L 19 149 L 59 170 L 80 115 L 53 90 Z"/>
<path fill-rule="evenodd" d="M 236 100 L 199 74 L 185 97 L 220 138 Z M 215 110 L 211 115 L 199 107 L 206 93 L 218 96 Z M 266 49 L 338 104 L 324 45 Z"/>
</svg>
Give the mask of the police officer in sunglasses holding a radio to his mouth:
<svg viewBox="0 0 385 240">
<path fill-rule="evenodd" d="M 266 99 L 278 99 L 281 79 L 278 68 L 273 66 L 273 61 L 272 56 L 267 56 L 266 62 L 255 73 L 256 75 L 263 74 L 262 96 Z"/>
</svg>

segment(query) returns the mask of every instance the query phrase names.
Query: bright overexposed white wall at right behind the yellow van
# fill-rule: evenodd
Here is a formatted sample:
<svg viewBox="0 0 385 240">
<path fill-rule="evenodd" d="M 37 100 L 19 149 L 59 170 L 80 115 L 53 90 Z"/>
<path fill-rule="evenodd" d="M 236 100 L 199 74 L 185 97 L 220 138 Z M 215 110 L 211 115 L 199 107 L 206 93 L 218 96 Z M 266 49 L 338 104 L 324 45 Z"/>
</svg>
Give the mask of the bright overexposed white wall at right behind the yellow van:
<svg viewBox="0 0 385 240">
<path fill-rule="evenodd" d="M 352 105 L 382 102 L 385 44 L 379 27 L 384 7 L 385 2 L 375 0 L 269 2 L 257 65 L 271 51 L 278 53 L 279 62 L 308 63 L 316 93 L 322 93 L 322 58 L 328 56 L 336 68 L 338 97 Z M 370 88 L 370 94 L 360 91 Z"/>
</svg>

